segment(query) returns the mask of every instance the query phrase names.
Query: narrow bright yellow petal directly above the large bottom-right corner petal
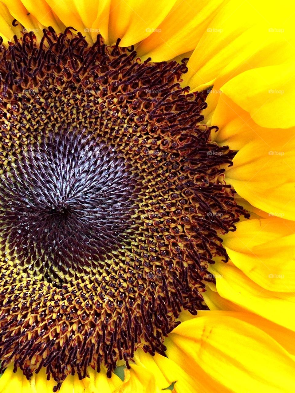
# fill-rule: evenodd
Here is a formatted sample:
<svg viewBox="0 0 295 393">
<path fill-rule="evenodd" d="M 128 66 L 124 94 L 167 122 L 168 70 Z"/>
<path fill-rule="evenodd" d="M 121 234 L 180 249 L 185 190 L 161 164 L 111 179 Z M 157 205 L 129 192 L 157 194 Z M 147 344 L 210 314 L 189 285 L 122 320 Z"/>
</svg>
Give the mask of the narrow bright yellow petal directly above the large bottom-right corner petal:
<svg viewBox="0 0 295 393">
<path fill-rule="evenodd" d="M 216 276 L 220 296 L 295 331 L 295 294 L 266 290 L 231 263 L 216 262 L 210 270 Z"/>
</svg>

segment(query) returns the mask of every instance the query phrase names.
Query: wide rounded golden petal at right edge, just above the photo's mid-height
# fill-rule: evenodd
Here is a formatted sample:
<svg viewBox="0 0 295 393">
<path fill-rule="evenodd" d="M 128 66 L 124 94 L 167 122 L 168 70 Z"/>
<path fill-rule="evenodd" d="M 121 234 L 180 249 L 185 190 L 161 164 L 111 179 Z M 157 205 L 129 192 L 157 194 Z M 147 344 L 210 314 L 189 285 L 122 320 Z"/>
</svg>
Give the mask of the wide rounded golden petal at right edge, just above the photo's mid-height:
<svg viewBox="0 0 295 393">
<path fill-rule="evenodd" d="M 295 220 L 295 133 L 260 134 L 225 173 L 238 195 L 270 215 Z"/>
</svg>

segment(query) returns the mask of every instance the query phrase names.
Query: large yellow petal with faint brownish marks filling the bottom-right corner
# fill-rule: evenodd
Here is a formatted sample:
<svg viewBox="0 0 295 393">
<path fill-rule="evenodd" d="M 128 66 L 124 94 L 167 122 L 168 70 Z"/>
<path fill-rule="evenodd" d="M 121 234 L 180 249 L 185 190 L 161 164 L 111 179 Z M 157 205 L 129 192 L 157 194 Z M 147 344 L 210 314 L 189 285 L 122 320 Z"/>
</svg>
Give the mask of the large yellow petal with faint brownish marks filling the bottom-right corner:
<svg viewBox="0 0 295 393">
<path fill-rule="evenodd" d="M 214 381 L 215 391 L 222 392 L 293 391 L 293 356 L 264 331 L 234 316 L 209 312 L 183 322 L 166 345 L 168 357 L 196 381 L 202 378 L 200 368 L 207 374 L 206 392 Z"/>
</svg>

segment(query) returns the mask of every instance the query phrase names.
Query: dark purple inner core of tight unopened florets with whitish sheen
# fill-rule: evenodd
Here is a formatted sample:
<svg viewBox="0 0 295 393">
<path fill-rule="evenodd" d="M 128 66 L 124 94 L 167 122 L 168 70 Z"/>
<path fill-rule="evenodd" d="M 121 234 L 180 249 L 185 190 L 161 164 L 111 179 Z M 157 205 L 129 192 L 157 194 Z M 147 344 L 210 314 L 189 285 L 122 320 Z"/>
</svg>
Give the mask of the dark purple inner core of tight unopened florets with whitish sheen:
<svg viewBox="0 0 295 393">
<path fill-rule="evenodd" d="M 2 175 L 0 233 L 10 261 L 55 286 L 97 273 L 118 246 L 130 246 L 135 185 L 115 149 L 85 130 L 42 136 Z"/>
</svg>

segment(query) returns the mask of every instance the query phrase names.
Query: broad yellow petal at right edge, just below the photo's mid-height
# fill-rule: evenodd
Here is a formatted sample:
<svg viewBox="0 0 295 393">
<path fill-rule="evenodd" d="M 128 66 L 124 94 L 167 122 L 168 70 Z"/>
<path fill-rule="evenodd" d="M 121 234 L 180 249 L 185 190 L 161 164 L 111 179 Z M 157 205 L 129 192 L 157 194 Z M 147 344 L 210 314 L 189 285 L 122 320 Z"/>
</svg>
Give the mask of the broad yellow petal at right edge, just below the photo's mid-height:
<svg viewBox="0 0 295 393">
<path fill-rule="evenodd" d="M 277 217 L 246 220 L 224 236 L 223 245 L 231 261 L 262 288 L 295 292 L 294 232 L 294 222 Z"/>
</svg>

